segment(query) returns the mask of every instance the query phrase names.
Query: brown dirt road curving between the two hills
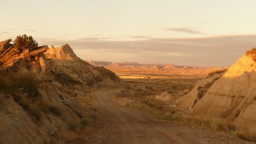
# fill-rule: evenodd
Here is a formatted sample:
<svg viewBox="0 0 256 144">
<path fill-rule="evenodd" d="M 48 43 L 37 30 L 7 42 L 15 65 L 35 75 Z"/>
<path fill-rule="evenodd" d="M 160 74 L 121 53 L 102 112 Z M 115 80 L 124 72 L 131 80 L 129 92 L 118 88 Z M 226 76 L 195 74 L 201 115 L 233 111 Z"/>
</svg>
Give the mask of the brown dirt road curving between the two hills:
<svg viewBox="0 0 256 144">
<path fill-rule="evenodd" d="M 93 101 L 99 109 L 100 122 L 86 143 L 248 143 L 225 132 L 168 123 L 136 109 L 118 106 L 107 90 L 94 92 Z"/>
</svg>

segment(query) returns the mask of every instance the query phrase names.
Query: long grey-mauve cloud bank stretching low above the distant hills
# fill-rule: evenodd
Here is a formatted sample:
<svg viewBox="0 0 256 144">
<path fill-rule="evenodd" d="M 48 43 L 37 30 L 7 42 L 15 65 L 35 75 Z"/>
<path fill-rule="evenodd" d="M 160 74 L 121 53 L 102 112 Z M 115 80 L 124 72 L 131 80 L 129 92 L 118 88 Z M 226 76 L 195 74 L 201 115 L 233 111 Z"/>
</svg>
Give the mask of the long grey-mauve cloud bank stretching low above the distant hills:
<svg viewBox="0 0 256 144">
<path fill-rule="evenodd" d="M 76 40 L 36 38 L 42 45 L 69 44 L 75 51 L 79 51 L 77 56 L 86 60 L 119 62 L 125 60 L 139 63 L 221 67 L 230 66 L 251 47 L 256 47 L 255 39 L 256 35 L 145 38 L 131 41 L 90 37 Z"/>
</svg>

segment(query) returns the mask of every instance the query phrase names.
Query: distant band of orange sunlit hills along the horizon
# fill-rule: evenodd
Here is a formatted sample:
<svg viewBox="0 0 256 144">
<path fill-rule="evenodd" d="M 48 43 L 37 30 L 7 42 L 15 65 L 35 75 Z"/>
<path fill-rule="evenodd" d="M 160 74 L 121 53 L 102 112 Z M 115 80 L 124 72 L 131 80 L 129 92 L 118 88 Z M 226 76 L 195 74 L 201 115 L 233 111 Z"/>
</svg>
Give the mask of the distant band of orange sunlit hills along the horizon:
<svg viewBox="0 0 256 144">
<path fill-rule="evenodd" d="M 105 67 L 118 76 L 147 75 L 147 76 L 184 76 L 205 77 L 210 72 L 221 70 L 221 67 L 192 67 L 172 64 L 140 64 L 136 62 L 111 63 L 107 61 L 87 61 L 97 67 Z"/>
</svg>

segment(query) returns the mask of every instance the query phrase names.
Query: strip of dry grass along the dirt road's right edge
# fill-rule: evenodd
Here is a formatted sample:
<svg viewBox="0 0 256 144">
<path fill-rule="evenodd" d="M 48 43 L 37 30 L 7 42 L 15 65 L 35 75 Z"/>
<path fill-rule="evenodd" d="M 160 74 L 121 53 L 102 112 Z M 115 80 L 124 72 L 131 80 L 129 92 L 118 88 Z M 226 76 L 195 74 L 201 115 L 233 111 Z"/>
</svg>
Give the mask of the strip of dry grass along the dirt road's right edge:
<svg viewBox="0 0 256 144">
<path fill-rule="evenodd" d="M 122 99 L 124 98 L 115 97 L 114 99 L 118 102 L 120 100 L 122 101 Z M 122 102 L 118 103 L 122 104 Z M 179 114 L 175 112 L 175 110 L 172 108 L 167 108 L 163 105 L 157 106 L 157 104 L 161 104 L 161 102 L 154 99 L 143 101 L 140 101 L 138 99 L 131 99 L 131 102 L 126 106 L 146 111 L 147 113 L 154 115 L 160 120 L 188 124 L 192 127 L 211 129 L 212 131 L 232 132 L 234 135 L 236 135 L 238 138 L 241 138 L 242 140 L 256 142 L 255 132 L 248 131 L 246 128 L 237 127 L 234 123 L 228 122 L 223 118 L 209 118 L 204 115 L 186 115 L 181 113 Z"/>
</svg>

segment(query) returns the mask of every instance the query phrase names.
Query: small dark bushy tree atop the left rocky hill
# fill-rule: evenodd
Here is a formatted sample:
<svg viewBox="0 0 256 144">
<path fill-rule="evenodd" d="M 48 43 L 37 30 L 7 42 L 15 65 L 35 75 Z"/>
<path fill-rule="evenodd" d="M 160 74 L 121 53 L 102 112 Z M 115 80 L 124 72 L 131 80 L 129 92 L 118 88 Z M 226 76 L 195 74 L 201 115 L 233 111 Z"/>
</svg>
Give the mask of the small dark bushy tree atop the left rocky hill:
<svg viewBox="0 0 256 144">
<path fill-rule="evenodd" d="M 21 51 L 25 49 L 35 49 L 38 47 L 38 43 L 33 39 L 32 36 L 22 35 L 17 36 L 15 40 L 13 40 L 14 47 L 17 47 Z"/>
</svg>

